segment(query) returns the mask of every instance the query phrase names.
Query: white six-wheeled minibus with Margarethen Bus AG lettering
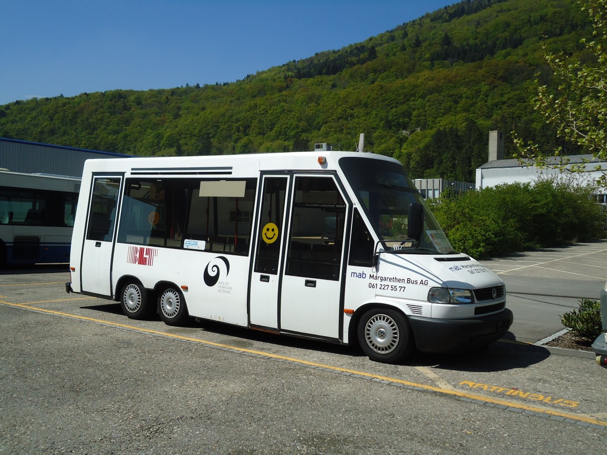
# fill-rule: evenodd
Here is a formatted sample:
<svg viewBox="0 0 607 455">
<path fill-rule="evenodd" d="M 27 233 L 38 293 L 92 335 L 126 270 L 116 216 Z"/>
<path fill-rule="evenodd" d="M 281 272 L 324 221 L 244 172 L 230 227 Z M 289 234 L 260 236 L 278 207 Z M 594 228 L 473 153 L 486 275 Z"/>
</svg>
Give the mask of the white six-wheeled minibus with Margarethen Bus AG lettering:
<svg viewBox="0 0 607 455">
<path fill-rule="evenodd" d="M 503 281 L 453 251 L 399 161 L 364 152 L 88 160 L 70 271 L 67 292 L 129 318 L 358 342 L 387 363 L 512 324 Z"/>
</svg>

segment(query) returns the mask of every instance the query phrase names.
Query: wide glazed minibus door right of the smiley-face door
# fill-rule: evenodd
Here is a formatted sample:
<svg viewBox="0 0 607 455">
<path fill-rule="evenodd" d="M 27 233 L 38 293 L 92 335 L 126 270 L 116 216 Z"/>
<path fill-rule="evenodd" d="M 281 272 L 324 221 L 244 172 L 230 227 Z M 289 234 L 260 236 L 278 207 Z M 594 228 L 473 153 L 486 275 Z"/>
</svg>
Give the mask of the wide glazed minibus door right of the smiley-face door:
<svg viewBox="0 0 607 455">
<path fill-rule="evenodd" d="M 294 179 L 280 330 L 341 339 L 346 203 L 331 176 Z"/>
</svg>

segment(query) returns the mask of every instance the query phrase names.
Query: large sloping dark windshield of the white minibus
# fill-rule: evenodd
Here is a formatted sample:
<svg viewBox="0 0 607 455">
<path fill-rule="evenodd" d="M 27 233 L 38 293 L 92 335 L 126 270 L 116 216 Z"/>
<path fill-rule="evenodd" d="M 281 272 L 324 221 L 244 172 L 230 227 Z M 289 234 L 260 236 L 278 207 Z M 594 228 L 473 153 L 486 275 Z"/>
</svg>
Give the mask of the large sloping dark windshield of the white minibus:
<svg viewBox="0 0 607 455">
<path fill-rule="evenodd" d="M 339 165 L 385 251 L 453 254 L 449 240 L 400 164 L 361 156 L 341 158 Z M 415 202 L 424 206 L 419 242 L 407 238 L 409 206 Z"/>
</svg>

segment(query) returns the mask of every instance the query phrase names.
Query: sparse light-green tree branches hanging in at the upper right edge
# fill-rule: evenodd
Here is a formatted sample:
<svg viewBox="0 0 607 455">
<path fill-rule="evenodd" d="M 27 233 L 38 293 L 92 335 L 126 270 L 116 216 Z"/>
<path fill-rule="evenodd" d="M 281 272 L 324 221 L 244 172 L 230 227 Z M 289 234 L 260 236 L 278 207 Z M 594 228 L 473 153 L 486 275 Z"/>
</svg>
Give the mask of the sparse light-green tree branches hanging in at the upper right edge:
<svg viewBox="0 0 607 455">
<path fill-rule="evenodd" d="M 607 161 L 607 0 L 584 3 L 582 11 L 586 11 L 592 21 L 593 39 L 582 38 L 580 42 L 592 58 L 572 62 L 565 53 L 553 53 L 544 44 L 544 60 L 558 83 L 555 89 L 548 84 L 538 87 L 535 110 L 544 116 L 559 138 L 578 144 L 600 161 Z M 540 75 L 536 83 L 539 79 Z M 569 164 L 562 155 L 562 146 L 549 155 L 537 144 L 524 141 L 516 131 L 513 135 L 518 157 L 522 160 L 546 167 L 551 157 L 560 157 L 558 166 L 561 169 Z M 571 166 L 574 171 L 584 168 L 584 164 Z M 607 182 L 607 175 L 603 174 L 602 181 Z"/>
</svg>

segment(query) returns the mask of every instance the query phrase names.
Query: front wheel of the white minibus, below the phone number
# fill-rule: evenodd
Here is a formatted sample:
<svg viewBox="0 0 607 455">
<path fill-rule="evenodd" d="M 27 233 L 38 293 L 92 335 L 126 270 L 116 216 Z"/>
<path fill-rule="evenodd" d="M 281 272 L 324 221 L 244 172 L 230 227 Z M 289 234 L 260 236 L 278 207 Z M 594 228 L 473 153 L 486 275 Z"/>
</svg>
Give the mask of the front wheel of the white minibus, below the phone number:
<svg viewBox="0 0 607 455">
<path fill-rule="evenodd" d="M 369 359 L 396 363 L 414 349 L 413 332 L 407 318 L 393 309 L 371 309 L 358 323 L 358 342 Z"/>
</svg>

